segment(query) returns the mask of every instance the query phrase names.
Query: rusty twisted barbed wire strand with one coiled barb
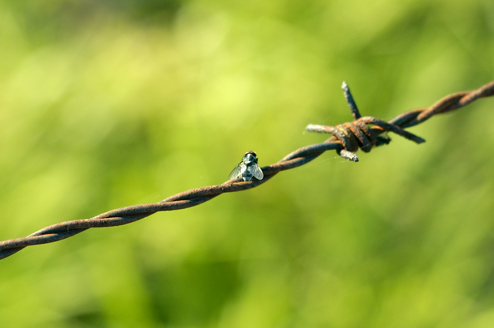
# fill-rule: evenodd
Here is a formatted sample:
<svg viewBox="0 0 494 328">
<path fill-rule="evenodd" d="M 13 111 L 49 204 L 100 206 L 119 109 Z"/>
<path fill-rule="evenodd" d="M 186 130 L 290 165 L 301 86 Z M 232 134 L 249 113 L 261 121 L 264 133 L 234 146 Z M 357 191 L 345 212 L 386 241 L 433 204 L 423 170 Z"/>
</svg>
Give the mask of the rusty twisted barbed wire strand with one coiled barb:
<svg viewBox="0 0 494 328">
<path fill-rule="evenodd" d="M 0 242 L 0 259 L 8 257 L 24 247 L 53 243 L 77 235 L 89 228 L 124 225 L 159 211 L 188 208 L 203 204 L 224 193 L 251 189 L 268 181 L 278 172 L 306 164 L 328 150 L 336 150 L 339 156 L 358 162 L 358 157 L 353 152 L 358 149 L 369 152 L 372 147 L 388 144 L 390 139 L 387 136 L 380 135 L 387 131 L 395 132 L 416 143 L 422 143 L 425 141 L 424 139 L 404 130 L 404 128 L 423 123 L 436 114 L 447 113 L 464 107 L 478 98 L 494 95 L 494 81 L 477 90 L 453 93 L 439 100 L 431 107 L 410 110 L 398 115 L 389 122 L 370 116 L 361 117 L 346 82 L 343 82 L 342 89 L 354 121 L 336 126 L 307 125 L 306 129 L 308 131 L 331 133 L 333 136 L 323 143 L 297 149 L 276 164 L 262 167 L 264 173 L 262 180 L 241 181 L 241 177 L 237 177 L 220 185 L 184 191 L 155 204 L 132 205 L 117 208 L 90 219 L 53 224 L 27 237 Z"/>
</svg>

